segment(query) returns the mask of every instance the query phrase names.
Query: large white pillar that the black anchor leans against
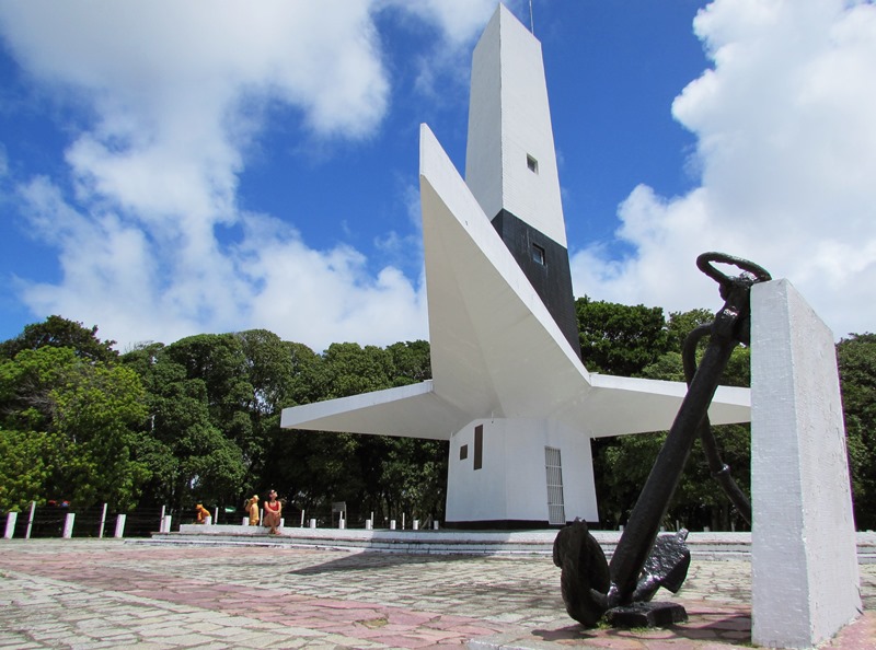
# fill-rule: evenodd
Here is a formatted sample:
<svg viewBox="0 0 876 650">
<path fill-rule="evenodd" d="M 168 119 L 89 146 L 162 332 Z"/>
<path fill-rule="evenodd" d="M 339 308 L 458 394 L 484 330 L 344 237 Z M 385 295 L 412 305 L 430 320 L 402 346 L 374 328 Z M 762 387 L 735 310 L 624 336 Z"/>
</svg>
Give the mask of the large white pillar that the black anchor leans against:
<svg viewBox="0 0 876 650">
<path fill-rule="evenodd" d="M 809 648 L 861 612 L 833 335 L 787 280 L 751 291 L 751 640 Z"/>
</svg>

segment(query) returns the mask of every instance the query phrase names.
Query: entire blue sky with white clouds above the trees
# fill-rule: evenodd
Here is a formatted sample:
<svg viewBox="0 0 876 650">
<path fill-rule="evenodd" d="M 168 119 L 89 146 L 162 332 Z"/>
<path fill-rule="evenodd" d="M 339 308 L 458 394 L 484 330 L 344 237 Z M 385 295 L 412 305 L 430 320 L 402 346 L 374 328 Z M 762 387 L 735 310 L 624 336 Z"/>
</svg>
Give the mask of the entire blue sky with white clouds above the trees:
<svg viewBox="0 0 876 650">
<path fill-rule="evenodd" d="M 874 329 L 872 2 L 532 7 L 576 295 L 717 309 L 721 249 Z M 0 0 L 0 339 L 428 336 L 417 130 L 464 169 L 495 0 L 222 8 Z"/>
</svg>

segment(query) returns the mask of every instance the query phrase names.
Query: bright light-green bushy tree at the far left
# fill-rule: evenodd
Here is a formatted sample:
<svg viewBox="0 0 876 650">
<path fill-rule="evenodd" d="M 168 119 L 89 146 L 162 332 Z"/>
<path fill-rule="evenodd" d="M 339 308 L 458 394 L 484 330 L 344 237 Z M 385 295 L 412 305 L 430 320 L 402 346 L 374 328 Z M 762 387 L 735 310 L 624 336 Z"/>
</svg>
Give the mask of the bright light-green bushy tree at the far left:
<svg viewBox="0 0 876 650">
<path fill-rule="evenodd" d="M 34 461 L 35 471 L 23 484 L 4 481 L 9 503 L 33 498 L 37 486 L 39 501 L 136 503 L 148 469 L 131 456 L 135 429 L 146 415 L 134 372 L 77 357 L 72 348 L 24 349 L 0 363 L 0 404 L 10 463 L 49 452 Z"/>
</svg>

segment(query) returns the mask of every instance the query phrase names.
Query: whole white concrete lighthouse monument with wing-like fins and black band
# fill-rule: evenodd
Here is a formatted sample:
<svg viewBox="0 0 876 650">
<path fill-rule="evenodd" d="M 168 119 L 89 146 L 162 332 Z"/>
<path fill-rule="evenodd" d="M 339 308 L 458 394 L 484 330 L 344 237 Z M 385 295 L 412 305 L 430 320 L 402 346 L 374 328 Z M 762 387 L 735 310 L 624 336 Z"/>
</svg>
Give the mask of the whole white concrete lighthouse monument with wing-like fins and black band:
<svg viewBox="0 0 876 650">
<path fill-rule="evenodd" d="M 465 181 L 425 125 L 419 179 L 433 380 L 281 426 L 449 440 L 449 525 L 596 522 L 590 440 L 668 429 L 687 386 L 581 363 L 541 44 L 503 5 L 473 55 Z M 748 421 L 749 391 L 708 415 Z"/>
</svg>

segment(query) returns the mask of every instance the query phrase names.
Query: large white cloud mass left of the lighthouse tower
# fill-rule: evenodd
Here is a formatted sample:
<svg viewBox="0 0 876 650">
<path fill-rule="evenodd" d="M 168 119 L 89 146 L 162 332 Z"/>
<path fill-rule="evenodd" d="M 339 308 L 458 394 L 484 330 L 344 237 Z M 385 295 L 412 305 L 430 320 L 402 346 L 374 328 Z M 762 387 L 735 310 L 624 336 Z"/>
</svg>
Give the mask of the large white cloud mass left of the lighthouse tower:
<svg viewBox="0 0 876 650">
<path fill-rule="evenodd" d="M 435 23 L 452 49 L 487 4 L 3 3 L 0 34 L 23 70 L 59 105 L 87 109 L 66 150 L 69 178 L 19 183 L 62 274 L 20 279 L 22 299 L 38 315 L 99 323 L 123 346 L 249 327 L 315 349 L 426 336 L 422 278 L 369 274 L 349 247 L 314 251 L 290 225 L 242 212 L 238 178 L 270 105 L 296 109 L 315 141 L 380 127 L 391 80 L 376 12 Z M 59 189 L 69 181 L 74 197 Z M 223 245 L 222 225 L 243 234 Z"/>
</svg>

